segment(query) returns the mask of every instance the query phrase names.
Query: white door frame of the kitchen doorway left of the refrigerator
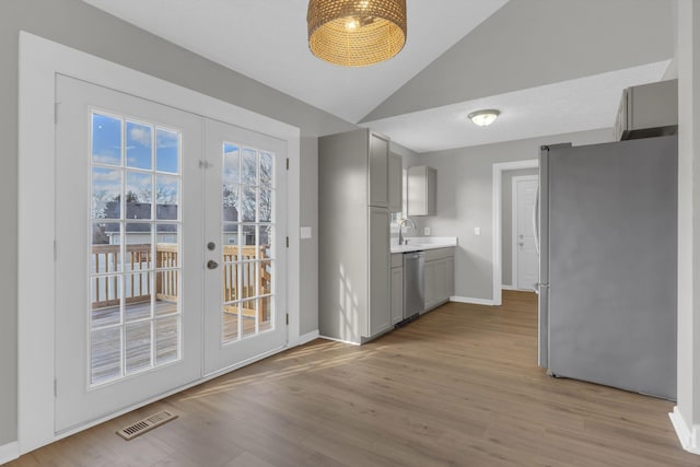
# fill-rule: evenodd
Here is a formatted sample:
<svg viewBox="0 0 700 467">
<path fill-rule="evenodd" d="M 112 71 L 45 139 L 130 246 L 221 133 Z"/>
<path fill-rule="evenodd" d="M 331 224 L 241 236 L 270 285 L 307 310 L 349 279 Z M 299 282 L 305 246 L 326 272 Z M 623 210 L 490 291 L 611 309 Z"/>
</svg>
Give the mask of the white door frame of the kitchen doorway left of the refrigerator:
<svg viewBox="0 0 700 467">
<path fill-rule="evenodd" d="M 501 202 L 501 185 L 503 180 L 503 172 L 505 171 L 517 171 L 521 168 L 537 168 L 539 166 L 538 159 L 528 159 L 525 161 L 514 161 L 514 162 L 499 162 L 493 164 L 492 168 L 492 199 L 493 207 L 491 209 L 491 218 L 493 222 L 493 249 L 491 256 L 491 265 L 493 269 L 493 293 L 491 304 L 493 306 L 499 306 L 503 303 L 503 299 L 501 296 L 501 288 L 503 280 L 503 271 L 501 267 L 501 215 L 502 215 L 502 202 Z"/>
</svg>

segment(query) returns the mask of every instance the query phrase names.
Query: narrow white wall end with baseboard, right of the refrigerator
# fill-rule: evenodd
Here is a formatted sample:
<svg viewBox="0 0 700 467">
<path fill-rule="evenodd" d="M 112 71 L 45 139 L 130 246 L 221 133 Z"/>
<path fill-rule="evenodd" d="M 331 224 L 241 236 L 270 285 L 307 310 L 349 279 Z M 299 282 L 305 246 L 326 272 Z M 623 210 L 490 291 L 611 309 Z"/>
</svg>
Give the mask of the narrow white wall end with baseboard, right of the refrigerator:
<svg viewBox="0 0 700 467">
<path fill-rule="evenodd" d="M 700 2 L 678 1 L 678 404 L 682 446 L 700 454 Z"/>
</svg>

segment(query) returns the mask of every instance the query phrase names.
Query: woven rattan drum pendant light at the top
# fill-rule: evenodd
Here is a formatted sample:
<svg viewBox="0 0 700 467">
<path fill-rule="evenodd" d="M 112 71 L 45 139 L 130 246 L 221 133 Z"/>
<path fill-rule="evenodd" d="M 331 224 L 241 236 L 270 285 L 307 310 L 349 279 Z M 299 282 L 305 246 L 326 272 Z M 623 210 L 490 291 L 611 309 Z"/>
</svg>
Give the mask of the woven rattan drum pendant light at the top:
<svg viewBox="0 0 700 467">
<path fill-rule="evenodd" d="M 406 0 L 310 0 L 308 48 L 322 60 L 364 67 L 406 44 Z"/>
</svg>

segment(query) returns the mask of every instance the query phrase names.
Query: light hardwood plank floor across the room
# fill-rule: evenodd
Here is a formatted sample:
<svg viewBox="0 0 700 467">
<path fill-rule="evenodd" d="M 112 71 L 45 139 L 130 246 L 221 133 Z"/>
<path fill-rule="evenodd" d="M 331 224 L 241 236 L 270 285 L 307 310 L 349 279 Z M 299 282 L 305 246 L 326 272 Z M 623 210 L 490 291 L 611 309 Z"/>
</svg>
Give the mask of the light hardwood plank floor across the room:
<svg viewBox="0 0 700 467">
<path fill-rule="evenodd" d="M 548 377 L 536 299 L 450 303 L 362 347 L 316 340 L 10 466 L 699 466 L 673 402 Z M 159 410 L 179 418 L 126 442 Z"/>
</svg>

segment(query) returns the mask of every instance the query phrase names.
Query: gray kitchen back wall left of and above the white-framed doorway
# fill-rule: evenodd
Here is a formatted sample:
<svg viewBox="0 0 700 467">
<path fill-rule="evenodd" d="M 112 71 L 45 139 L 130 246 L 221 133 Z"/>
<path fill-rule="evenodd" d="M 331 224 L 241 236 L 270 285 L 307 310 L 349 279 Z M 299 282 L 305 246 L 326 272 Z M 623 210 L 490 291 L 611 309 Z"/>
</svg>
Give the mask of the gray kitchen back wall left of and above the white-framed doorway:
<svg viewBox="0 0 700 467">
<path fill-rule="evenodd" d="M 539 147 L 572 142 L 607 142 L 611 129 L 558 135 L 421 154 L 421 162 L 438 168 L 438 215 L 422 223 L 433 236 L 457 236 L 455 295 L 492 300 L 492 165 L 537 159 Z M 481 235 L 474 227 L 481 227 Z"/>
</svg>

